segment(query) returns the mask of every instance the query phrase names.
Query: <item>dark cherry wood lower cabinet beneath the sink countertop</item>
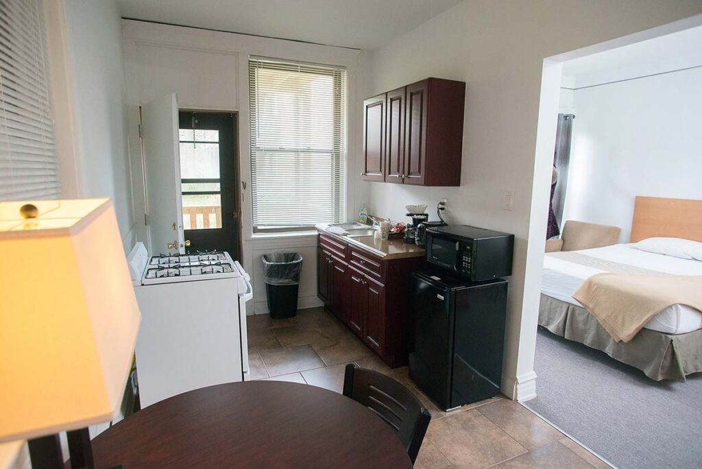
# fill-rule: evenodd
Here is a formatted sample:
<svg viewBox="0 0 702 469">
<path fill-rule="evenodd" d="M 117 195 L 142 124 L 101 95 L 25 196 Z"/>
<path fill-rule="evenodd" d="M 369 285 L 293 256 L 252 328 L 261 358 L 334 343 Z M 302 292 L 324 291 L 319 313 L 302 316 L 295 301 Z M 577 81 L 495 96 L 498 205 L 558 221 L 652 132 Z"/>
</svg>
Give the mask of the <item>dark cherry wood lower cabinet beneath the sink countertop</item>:
<svg viewBox="0 0 702 469">
<path fill-rule="evenodd" d="M 386 260 L 319 234 L 319 298 L 392 367 L 407 362 L 409 280 L 419 262 L 420 258 Z"/>
</svg>

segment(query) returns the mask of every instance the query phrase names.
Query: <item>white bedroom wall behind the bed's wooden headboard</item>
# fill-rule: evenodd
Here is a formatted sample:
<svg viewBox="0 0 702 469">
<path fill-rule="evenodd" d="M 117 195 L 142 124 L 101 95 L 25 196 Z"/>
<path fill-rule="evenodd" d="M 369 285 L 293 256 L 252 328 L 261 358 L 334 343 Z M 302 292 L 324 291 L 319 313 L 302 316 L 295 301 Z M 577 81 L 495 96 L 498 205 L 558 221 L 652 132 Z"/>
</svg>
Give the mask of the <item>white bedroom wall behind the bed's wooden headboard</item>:
<svg viewBox="0 0 702 469">
<path fill-rule="evenodd" d="M 628 242 L 637 195 L 702 199 L 702 68 L 576 89 L 574 108 L 564 220 Z"/>
</svg>

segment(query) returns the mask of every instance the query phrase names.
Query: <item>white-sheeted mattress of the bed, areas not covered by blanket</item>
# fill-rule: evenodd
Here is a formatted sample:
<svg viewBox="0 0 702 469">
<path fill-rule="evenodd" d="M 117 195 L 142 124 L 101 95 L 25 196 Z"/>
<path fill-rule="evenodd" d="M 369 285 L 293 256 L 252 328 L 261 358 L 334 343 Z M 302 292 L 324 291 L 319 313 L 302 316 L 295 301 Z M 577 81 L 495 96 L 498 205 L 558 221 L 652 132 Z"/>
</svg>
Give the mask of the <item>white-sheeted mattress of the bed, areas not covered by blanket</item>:
<svg viewBox="0 0 702 469">
<path fill-rule="evenodd" d="M 702 262 L 698 260 L 649 253 L 637 249 L 634 244 L 614 244 L 604 248 L 574 252 L 665 274 L 702 275 Z M 605 271 L 555 258 L 546 253 L 543 260 L 541 293 L 572 305 L 582 306 L 573 298 L 573 293 L 585 282 L 585 279 L 600 272 Z M 702 328 L 702 313 L 686 305 L 673 305 L 659 312 L 644 328 L 669 334 L 695 331 Z"/>
</svg>

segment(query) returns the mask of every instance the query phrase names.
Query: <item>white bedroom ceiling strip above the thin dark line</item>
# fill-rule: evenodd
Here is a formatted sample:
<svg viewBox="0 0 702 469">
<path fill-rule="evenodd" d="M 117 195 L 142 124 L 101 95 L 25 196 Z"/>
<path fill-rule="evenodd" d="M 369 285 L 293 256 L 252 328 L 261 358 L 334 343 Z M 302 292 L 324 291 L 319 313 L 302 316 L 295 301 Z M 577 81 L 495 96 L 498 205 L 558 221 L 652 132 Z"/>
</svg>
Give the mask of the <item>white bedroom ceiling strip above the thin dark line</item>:
<svg viewBox="0 0 702 469">
<path fill-rule="evenodd" d="M 702 65 L 702 27 L 693 27 L 564 62 L 563 74 L 574 79 L 578 86 L 590 86 L 597 81 L 698 65 Z"/>
</svg>

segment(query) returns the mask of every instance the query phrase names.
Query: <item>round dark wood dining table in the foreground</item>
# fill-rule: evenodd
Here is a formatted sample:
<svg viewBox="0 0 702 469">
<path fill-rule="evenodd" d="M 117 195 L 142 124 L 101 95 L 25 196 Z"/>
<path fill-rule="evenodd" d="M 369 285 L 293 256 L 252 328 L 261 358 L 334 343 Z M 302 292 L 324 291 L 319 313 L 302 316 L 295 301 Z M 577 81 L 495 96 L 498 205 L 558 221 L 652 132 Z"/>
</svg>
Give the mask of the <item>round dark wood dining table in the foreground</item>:
<svg viewBox="0 0 702 469">
<path fill-rule="evenodd" d="M 411 468 L 395 432 L 336 392 L 282 381 L 165 399 L 92 442 L 96 468 Z"/>
</svg>

